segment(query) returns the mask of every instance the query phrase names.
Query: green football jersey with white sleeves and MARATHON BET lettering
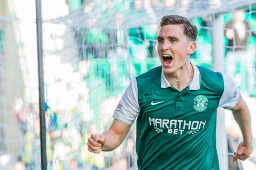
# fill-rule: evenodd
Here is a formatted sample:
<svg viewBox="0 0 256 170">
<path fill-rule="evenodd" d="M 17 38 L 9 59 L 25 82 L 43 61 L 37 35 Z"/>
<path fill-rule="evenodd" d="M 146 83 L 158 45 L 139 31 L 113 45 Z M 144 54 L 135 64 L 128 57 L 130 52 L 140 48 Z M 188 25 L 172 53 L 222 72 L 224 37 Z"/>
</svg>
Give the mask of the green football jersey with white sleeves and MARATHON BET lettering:
<svg viewBox="0 0 256 170">
<path fill-rule="evenodd" d="M 116 107 L 113 117 L 125 124 L 137 117 L 139 170 L 219 170 L 216 109 L 232 109 L 240 93 L 228 76 L 192 66 L 181 92 L 158 66 L 132 80 Z"/>
</svg>

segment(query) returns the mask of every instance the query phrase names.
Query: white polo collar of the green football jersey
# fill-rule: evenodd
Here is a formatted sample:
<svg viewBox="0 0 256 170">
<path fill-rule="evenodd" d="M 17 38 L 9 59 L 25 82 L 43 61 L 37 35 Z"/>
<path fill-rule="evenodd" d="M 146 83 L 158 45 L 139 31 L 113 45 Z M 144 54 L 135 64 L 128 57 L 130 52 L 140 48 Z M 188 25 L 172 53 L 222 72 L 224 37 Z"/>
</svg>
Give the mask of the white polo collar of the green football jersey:
<svg viewBox="0 0 256 170">
<path fill-rule="evenodd" d="M 199 90 L 200 89 L 200 80 L 201 80 L 201 76 L 200 76 L 200 72 L 197 68 L 197 66 L 192 62 L 190 61 L 190 63 L 192 64 L 193 66 L 193 69 L 194 69 L 194 76 L 193 76 L 193 79 L 192 79 L 192 82 L 189 84 L 190 86 L 190 90 Z M 164 75 L 164 70 L 162 68 L 162 72 L 161 72 L 161 88 L 168 88 L 168 87 L 171 87 L 170 83 L 167 81 L 165 75 Z"/>
</svg>

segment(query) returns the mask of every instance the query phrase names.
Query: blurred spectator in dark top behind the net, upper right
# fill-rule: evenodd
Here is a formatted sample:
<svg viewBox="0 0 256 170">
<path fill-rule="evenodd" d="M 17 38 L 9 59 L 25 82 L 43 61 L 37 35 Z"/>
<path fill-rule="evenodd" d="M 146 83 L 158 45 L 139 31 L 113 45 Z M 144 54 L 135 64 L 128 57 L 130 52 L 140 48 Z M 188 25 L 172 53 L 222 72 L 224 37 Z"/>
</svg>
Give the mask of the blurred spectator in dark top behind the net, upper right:
<svg viewBox="0 0 256 170">
<path fill-rule="evenodd" d="M 228 39 L 229 46 L 226 56 L 228 62 L 227 74 L 238 83 L 241 91 L 249 90 L 252 93 L 255 84 L 255 49 L 247 49 L 251 28 L 244 19 L 244 11 L 235 11 L 233 21 L 229 21 L 226 24 L 225 36 Z M 251 34 L 256 36 L 252 31 Z M 242 67 L 241 65 L 244 66 Z"/>
</svg>

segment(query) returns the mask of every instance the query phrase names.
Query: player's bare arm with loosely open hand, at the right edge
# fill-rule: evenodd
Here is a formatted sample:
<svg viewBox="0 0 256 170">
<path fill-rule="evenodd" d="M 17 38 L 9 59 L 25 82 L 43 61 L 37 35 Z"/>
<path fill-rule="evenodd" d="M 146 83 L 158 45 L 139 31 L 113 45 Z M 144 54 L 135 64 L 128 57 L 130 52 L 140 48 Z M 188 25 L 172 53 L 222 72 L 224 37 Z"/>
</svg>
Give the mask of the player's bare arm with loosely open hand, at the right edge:
<svg viewBox="0 0 256 170">
<path fill-rule="evenodd" d="M 243 136 L 243 141 L 239 144 L 237 152 L 234 153 L 233 163 L 235 163 L 238 159 L 246 160 L 252 153 L 251 117 L 242 96 L 231 110 Z"/>
</svg>

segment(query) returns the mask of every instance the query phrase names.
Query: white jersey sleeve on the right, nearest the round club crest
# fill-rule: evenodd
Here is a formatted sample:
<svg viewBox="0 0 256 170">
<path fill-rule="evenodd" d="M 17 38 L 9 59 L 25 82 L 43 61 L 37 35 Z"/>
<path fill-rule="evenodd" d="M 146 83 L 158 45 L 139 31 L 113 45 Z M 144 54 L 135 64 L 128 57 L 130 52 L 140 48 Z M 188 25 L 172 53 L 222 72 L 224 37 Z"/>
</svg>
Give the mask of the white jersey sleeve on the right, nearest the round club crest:
<svg viewBox="0 0 256 170">
<path fill-rule="evenodd" d="M 224 109 L 232 109 L 236 106 L 240 98 L 240 92 L 236 87 L 236 84 L 229 76 L 225 74 L 222 74 L 222 76 L 224 81 L 224 91 L 220 98 L 218 107 L 223 107 Z"/>
</svg>

